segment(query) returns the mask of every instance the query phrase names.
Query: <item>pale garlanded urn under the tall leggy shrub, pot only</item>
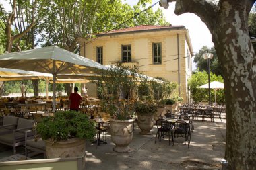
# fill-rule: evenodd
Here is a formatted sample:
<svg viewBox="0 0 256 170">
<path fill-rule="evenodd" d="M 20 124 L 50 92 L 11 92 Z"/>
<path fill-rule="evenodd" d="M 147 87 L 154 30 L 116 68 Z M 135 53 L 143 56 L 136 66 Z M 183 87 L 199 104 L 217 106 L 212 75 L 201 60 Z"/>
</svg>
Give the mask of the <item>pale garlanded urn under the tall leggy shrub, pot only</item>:
<svg viewBox="0 0 256 170">
<path fill-rule="evenodd" d="M 133 139 L 134 120 L 110 120 L 111 140 L 115 144 L 114 151 L 118 153 L 129 152 L 129 144 Z"/>
</svg>

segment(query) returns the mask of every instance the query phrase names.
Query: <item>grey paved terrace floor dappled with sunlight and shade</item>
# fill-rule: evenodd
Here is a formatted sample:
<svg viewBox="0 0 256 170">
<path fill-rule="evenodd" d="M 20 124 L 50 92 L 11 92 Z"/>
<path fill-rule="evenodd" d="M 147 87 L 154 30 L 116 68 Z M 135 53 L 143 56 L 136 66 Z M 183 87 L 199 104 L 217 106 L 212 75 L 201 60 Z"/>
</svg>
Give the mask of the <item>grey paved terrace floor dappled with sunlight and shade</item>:
<svg viewBox="0 0 256 170">
<path fill-rule="evenodd" d="M 116 153 L 114 144 L 107 136 L 108 144 L 97 146 L 86 143 L 86 170 L 97 169 L 221 169 L 220 159 L 224 158 L 226 120 L 215 119 L 194 121 L 189 148 L 184 138 L 175 139 L 174 146 L 168 145 L 168 138 L 155 141 L 156 127 L 152 135 L 142 136 L 135 127 L 130 153 Z M 24 153 L 18 147 L 18 153 Z M 0 144 L 0 159 L 12 155 L 12 148 Z M 43 158 L 37 155 L 34 159 Z"/>
</svg>

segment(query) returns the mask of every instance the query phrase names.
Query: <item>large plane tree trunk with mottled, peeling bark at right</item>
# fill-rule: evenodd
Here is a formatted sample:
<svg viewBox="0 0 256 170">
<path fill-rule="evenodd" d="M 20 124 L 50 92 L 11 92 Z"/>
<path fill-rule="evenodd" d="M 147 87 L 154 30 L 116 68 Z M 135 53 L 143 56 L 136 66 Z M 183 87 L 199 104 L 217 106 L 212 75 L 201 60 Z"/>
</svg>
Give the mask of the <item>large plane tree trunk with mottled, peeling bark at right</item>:
<svg viewBox="0 0 256 170">
<path fill-rule="evenodd" d="M 255 0 L 176 2 L 177 15 L 191 12 L 205 22 L 224 69 L 228 167 L 255 169 L 256 59 L 248 31 L 248 15 Z"/>
</svg>

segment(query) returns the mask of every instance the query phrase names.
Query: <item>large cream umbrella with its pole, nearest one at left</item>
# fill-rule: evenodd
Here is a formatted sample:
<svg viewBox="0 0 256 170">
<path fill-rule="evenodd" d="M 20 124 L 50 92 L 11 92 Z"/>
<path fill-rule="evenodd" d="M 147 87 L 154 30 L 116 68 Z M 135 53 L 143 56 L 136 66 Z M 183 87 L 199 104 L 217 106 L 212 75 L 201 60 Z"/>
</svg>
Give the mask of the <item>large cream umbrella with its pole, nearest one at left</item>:
<svg viewBox="0 0 256 170">
<path fill-rule="evenodd" d="M 38 71 L 53 75 L 53 112 L 55 112 L 55 81 L 59 74 L 94 73 L 94 69 L 107 69 L 98 62 L 84 58 L 57 46 L 13 52 L 0 56 L 0 67 Z"/>
</svg>

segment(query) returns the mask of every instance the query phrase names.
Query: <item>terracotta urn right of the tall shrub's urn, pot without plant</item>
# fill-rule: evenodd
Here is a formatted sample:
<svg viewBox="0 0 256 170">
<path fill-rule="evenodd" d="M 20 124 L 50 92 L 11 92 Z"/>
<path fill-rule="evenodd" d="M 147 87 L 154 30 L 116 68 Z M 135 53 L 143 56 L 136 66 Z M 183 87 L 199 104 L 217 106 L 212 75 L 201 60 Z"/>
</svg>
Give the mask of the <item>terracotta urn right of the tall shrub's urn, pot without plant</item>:
<svg viewBox="0 0 256 170">
<path fill-rule="evenodd" d="M 153 114 L 138 114 L 138 126 L 141 129 L 140 134 L 147 135 L 152 134 L 150 130 L 152 130 L 154 126 L 154 115 Z"/>
</svg>

